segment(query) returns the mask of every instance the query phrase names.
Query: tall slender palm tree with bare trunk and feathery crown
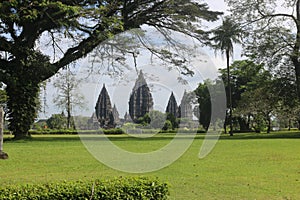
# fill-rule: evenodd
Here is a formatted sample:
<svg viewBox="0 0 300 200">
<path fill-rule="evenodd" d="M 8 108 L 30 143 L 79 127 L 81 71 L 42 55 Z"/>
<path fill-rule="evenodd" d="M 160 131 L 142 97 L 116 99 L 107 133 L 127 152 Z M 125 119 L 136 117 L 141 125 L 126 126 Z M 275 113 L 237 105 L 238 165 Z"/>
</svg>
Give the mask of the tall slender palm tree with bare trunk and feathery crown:
<svg viewBox="0 0 300 200">
<path fill-rule="evenodd" d="M 212 47 L 215 52 L 221 51 L 221 54 L 226 56 L 227 61 L 227 85 L 228 85 L 228 109 L 229 109 L 229 125 L 230 125 L 230 136 L 233 136 L 233 125 L 232 125 L 232 94 L 230 84 L 230 71 L 229 61 L 230 56 L 233 56 L 233 44 L 241 43 L 242 30 L 240 26 L 234 23 L 229 17 L 225 17 L 222 25 L 212 31 L 213 41 Z"/>
</svg>

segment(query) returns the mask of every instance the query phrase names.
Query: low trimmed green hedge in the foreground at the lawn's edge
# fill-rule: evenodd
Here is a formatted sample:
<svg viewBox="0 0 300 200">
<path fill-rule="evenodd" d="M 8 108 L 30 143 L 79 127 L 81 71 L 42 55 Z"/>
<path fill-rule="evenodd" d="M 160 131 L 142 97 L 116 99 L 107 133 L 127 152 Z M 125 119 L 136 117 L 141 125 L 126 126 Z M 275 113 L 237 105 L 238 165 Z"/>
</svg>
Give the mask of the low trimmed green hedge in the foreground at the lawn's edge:
<svg viewBox="0 0 300 200">
<path fill-rule="evenodd" d="M 2 200 L 167 199 L 168 185 L 157 179 L 119 178 L 110 181 L 61 182 L 0 188 Z"/>
</svg>

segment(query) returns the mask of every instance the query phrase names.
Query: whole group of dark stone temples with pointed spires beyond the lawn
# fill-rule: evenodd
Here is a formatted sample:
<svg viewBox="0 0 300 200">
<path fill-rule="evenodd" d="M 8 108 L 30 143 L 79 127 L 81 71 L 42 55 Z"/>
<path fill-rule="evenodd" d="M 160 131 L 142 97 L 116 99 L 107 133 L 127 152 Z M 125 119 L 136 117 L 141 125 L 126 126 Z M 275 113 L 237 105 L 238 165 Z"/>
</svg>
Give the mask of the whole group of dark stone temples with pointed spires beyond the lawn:
<svg viewBox="0 0 300 200">
<path fill-rule="evenodd" d="M 172 114 L 175 118 L 193 119 L 192 94 L 184 92 L 180 105 L 178 106 L 173 92 L 170 95 L 166 113 Z M 126 122 L 138 123 L 139 118 L 153 110 L 153 98 L 142 71 L 139 72 L 138 78 L 132 89 L 129 98 L 129 113 L 126 112 L 124 119 L 119 118 L 119 112 L 116 105 L 112 107 L 109 94 L 105 85 L 99 94 L 96 107 L 95 121 L 99 122 L 102 128 L 114 128 Z"/>
</svg>

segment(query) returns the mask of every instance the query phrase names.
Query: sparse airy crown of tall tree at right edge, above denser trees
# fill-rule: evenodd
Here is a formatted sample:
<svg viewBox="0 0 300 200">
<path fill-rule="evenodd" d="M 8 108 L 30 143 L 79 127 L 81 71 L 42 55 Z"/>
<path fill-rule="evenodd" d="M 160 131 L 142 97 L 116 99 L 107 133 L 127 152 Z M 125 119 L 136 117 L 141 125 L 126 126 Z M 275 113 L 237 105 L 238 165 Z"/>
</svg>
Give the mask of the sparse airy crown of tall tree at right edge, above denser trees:
<svg viewBox="0 0 300 200">
<path fill-rule="evenodd" d="M 300 98 L 300 0 L 226 0 L 245 31 L 244 53 L 269 68 L 293 66 Z"/>
</svg>

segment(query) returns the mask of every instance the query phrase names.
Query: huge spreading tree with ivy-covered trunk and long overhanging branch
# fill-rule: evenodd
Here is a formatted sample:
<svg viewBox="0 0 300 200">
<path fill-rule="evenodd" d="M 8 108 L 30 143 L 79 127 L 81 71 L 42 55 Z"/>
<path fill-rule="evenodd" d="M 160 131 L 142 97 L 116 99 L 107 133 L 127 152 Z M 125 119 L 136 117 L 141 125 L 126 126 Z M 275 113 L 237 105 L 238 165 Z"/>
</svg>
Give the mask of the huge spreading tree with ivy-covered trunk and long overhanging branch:
<svg viewBox="0 0 300 200">
<path fill-rule="evenodd" d="M 0 80 L 7 86 L 10 130 L 16 138 L 26 136 L 38 84 L 103 41 L 142 25 L 203 41 L 201 21 L 220 14 L 192 0 L 1 1 Z M 41 48 L 43 40 L 50 51 Z"/>
</svg>

